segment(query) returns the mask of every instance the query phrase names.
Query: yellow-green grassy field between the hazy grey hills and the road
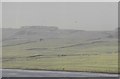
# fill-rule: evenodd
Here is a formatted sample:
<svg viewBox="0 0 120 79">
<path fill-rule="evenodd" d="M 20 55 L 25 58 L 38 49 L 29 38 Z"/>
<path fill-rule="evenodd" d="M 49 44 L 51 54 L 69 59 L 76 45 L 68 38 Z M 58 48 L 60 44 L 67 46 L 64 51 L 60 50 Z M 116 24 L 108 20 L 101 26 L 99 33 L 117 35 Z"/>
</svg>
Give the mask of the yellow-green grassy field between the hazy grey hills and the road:
<svg viewBox="0 0 120 79">
<path fill-rule="evenodd" d="M 115 41 L 50 39 L 3 46 L 3 68 L 118 73 Z"/>
</svg>

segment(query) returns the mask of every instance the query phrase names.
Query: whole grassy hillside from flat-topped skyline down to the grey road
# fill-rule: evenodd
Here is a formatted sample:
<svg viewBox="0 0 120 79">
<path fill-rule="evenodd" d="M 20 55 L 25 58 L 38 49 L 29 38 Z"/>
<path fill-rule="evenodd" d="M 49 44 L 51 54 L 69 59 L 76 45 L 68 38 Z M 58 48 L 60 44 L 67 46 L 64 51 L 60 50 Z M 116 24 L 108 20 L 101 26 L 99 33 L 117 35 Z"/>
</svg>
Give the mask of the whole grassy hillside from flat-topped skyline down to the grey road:
<svg viewBox="0 0 120 79">
<path fill-rule="evenodd" d="M 3 68 L 118 72 L 114 31 L 31 27 L 4 33 Z"/>
</svg>

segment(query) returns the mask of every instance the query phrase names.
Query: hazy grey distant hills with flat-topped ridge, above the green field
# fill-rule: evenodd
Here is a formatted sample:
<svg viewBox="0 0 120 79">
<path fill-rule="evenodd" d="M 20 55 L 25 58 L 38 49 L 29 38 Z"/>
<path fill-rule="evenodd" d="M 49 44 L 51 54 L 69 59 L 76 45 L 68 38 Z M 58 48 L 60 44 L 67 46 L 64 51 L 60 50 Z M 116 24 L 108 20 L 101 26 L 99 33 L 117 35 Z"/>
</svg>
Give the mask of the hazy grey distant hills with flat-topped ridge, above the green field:
<svg viewBox="0 0 120 79">
<path fill-rule="evenodd" d="M 3 45 L 14 41 L 38 41 L 38 40 L 73 40 L 94 41 L 94 40 L 116 40 L 117 30 L 113 31 L 85 31 L 72 29 L 59 29 L 49 26 L 23 26 L 16 28 L 2 28 Z"/>
</svg>

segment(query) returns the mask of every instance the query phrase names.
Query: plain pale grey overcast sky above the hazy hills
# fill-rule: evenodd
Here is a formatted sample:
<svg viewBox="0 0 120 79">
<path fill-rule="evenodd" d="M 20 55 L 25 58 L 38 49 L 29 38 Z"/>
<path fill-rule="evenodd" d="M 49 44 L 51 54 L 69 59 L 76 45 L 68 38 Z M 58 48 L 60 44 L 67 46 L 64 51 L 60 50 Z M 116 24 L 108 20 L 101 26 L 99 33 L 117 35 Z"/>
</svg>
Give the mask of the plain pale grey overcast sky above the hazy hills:
<svg viewBox="0 0 120 79">
<path fill-rule="evenodd" d="M 113 30 L 118 27 L 117 2 L 3 3 L 3 27 L 58 26 L 63 29 Z"/>
</svg>

